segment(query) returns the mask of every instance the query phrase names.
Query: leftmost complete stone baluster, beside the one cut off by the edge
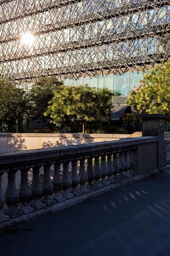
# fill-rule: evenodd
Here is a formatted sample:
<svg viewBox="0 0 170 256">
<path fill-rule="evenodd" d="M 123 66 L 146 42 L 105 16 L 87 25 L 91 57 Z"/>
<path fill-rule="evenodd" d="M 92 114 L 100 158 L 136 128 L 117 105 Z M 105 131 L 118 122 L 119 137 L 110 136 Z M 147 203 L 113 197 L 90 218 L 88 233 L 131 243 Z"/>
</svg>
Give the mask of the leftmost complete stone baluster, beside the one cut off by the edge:
<svg viewBox="0 0 170 256">
<path fill-rule="evenodd" d="M 19 202 L 20 197 L 15 186 L 15 173 L 17 171 L 18 170 L 13 170 L 12 168 L 9 170 L 7 190 L 4 193 L 6 204 L 8 206 L 4 210 L 4 214 L 8 215 L 10 218 L 15 218 L 22 215 L 22 212 L 15 208 L 15 205 Z"/>
</svg>

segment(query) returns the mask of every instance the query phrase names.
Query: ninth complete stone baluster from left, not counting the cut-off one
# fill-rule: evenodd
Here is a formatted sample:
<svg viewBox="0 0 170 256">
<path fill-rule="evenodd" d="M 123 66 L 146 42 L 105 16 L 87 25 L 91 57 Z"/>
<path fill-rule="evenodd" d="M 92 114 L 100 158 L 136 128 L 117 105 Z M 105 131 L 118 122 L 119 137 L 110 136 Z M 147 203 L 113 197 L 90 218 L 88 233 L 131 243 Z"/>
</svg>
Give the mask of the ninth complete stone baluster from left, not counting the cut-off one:
<svg viewBox="0 0 170 256">
<path fill-rule="evenodd" d="M 97 189 L 97 186 L 95 186 L 95 184 L 94 184 L 95 173 L 93 171 L 92 161 L 93 161 L 93 157 L 88 157 L 87 158 L 87 171 L 86 171 L 86 173 L 87 173 L 87 176 L 88 176 L 88 180 L 87 180 L 87 184 L 85 185 L 86 188 L 90 189 L 91 191 Z"/>
</svg>

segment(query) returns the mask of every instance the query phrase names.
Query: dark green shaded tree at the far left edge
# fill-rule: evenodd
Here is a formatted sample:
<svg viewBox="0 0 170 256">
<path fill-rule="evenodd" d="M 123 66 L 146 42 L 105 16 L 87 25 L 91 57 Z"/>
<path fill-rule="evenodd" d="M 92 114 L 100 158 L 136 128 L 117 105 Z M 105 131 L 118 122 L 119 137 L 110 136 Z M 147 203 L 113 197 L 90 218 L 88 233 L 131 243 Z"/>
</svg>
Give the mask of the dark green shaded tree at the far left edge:
<svg viewBox="0 0 170 256">
<path fill-rule="evenodd" d="M 9 79 L 0 79 L 0 119 L 1 121 L 21 121 L 27 111 L 27 97 L 23 88 Z"/>
</svg>

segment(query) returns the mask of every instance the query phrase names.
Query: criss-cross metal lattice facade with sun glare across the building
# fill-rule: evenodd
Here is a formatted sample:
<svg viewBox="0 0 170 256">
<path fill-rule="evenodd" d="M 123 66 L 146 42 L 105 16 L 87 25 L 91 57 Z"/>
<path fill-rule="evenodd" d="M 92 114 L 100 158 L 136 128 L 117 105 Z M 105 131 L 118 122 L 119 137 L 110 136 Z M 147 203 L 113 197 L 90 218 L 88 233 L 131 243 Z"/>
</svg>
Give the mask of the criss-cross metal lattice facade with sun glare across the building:
<svg viewBox="0 0 170 256">
<path fill-rule="evenodd" d="M 12 80 L 117 74 L 168 58 L 170 0 L 0 1 L 0 74 Z"/>
</svg>

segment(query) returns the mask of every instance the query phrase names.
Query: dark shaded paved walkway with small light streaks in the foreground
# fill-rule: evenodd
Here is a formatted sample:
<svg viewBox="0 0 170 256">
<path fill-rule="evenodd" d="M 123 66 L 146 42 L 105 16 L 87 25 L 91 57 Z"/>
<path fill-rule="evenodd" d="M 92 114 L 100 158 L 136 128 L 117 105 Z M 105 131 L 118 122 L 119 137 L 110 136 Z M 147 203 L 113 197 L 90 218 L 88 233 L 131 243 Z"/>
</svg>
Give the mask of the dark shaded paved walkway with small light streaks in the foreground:
<svg viewBox="0 0 170 256">
<path fill-rule="evenodd" d="M 170 167 L 0 235 L 0 256 L 170 256 Z"/>
</svg>

